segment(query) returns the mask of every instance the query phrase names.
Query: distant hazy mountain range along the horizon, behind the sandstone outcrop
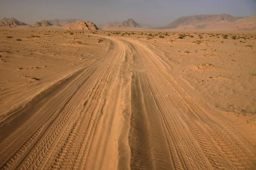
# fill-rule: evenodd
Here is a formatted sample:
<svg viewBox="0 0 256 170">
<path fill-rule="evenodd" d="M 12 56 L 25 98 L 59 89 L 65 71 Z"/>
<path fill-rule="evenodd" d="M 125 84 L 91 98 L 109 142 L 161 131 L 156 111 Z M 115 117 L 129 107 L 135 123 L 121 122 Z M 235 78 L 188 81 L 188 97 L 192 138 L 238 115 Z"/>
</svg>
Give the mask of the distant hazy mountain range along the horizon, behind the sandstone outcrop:
<svg viewBox="0 0 256 170">
<path fill-rule="evenodd" d="M 65 26 L 68 23 L 73 23 L 79 19 L 54 19 L 41 20 L 35 22 L 34 26 L 27 25 L 15 18 L 3 18 L 0 20 L 0 26 L 26 26 L 29 28 L 40 26 Z M 81 20 L 80 20 L 81 21 Z M 123 22 L 111 22 L 107 24 L 100 24 L 99 28 L 153 28 L 146 23 L 137 23 L 133 19 L 128 19 Z M 186 17 L 179 17 L 172 23 L 157 27 L 154 29 L 232 29 L 232 30 L 256 30 L 256 14 L 250 17 L 233 17 L 229 14 L 220 15 L 192 15 Z"/>
</svg>

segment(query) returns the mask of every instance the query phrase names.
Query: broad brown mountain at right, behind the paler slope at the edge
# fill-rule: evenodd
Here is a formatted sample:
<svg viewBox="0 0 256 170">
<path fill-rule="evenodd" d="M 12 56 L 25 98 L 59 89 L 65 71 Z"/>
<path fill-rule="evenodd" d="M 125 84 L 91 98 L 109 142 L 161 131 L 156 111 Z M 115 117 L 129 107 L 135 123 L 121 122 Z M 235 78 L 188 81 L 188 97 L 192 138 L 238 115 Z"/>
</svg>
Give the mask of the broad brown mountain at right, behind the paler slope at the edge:
<svg viewBox="0 0 256 170">
<path fill-rule="evenodd" d="M 220 15 L 192 15 L 186 17 L 179 17 L 177 20 L 173 21 L 167 26 L 159 27 L 162 29 L 171 28 L 207 28 L 210 25 L 223 25 L 227 23 L 233 23 L 242 17 L 233 17 L 228 14 Z"/>
</svg>

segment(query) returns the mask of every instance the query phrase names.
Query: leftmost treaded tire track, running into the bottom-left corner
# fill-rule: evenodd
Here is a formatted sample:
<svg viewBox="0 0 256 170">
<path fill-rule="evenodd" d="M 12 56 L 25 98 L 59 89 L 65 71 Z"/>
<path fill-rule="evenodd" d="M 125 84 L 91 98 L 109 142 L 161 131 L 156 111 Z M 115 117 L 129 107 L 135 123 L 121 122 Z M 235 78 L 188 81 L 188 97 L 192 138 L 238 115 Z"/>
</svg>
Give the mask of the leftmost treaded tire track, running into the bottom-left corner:
<svg viewBox="0 0 256 170">
<path fill-rule="evenodd" d="M 99 61 L 99 63 L 103 63 L 103 65 L 96 68 L 93 73 L 84 80 L 61 111 L 56 111 L 52 114 L 50 119 L 48 119 L 20 150 L 3 165 L 3 169 L 38 169 L 41 167 L 43 161 L 47 159 L 48 152 L 54 148 L 53 145 L 63 134 L 68 123 L 71 122 L 86 92 L 89 91 L 94 82 L 102 75 L 105 68 L 104 65 L 112 63 L 114 57 L 115 56 L 112 55 L 111 57 L 106 57 L 106 59 L 104 59 L 105 61 Z M 52 118 L 54 119 L 52 120 Z M 40 133 L 42 134 L 39 136 Z M 24 148 L 27 149 L 25 152 Z"/>
</svg>

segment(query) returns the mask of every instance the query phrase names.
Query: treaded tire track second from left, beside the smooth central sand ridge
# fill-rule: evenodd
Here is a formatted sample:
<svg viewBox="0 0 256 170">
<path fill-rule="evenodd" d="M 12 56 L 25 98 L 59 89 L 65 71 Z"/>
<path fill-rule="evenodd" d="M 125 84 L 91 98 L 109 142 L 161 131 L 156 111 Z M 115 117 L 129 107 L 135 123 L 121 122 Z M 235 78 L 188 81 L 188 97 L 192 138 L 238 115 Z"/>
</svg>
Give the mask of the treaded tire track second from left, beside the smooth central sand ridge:
<svg viewBox="0 0 256 170">
<path fill-rule="evenodd" d="M 79 169 L 81 168 L 81 159 L 86 161 L 90 143 L 92 142 L 99 116 L 102 113 L 103 95 L 118 58 L 117 54 L 112 57 L 110 64 L 106 67 L 106 72 L 102 74 L 102 79 L 99 79 L 86 97 L 84 108 L 78 120 L 74 123 L 66 142 L 52 164 L 53 169 Z"/>
</svg>

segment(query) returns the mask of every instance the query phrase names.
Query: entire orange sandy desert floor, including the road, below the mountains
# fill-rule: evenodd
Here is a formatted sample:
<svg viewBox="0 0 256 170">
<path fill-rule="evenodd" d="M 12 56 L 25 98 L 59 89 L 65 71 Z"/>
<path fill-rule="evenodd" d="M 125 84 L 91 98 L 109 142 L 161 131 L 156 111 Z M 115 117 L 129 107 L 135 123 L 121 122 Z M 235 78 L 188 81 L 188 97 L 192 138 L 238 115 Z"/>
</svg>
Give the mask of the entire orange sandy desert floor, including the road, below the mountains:
<svg viewBox="0 0 256 170">
<path fill-rule="evenodd" d="M 256 169 L 255 38 L 0 29 L 0 167 Z"/>
</svg>

